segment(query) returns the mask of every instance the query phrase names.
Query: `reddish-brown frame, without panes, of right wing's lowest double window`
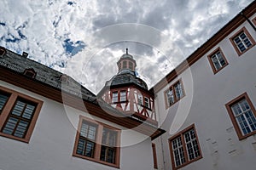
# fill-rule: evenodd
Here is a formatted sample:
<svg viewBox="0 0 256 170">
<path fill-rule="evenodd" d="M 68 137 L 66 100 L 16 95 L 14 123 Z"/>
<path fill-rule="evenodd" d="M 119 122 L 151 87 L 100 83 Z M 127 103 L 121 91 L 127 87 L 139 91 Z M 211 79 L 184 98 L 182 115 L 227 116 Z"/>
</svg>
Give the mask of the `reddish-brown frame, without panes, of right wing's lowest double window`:
<svg viewBox="0 0 256 170">
<path fill-rule="evenodd" d="M 195 157 L 195 159 L 189 161 L 189 156 L 188 156 L 189 154 L 188 154 L 187 147 L 185 145 L 185 140 L 184 140 L 183 134 L 189 132 L 191 129 L 194 129 L 195 139 L 196 139 L 197 144 L 198 144 L 198 150 L 200 152 L 200 156 L 197 156 L 197 157 Z M 175 166 L 174 156 L 173 156 L 173 150 L 172 150 L 172 141 L 174 139 L 177 139 L 178 137 L 181 137 L 181 139 L 182 139 L 182 147 L 183 147 L 185 162 L 183 164 L 181 164 L 181 165 L 176 167 Z M 189 127 L 186 127 L 185 129 L 183 129 L 181 132 L 175 134 L 170 139 L 168 139 L 168 142 L 169 142 L 169 149 L 170 149 L 171 160 L 172 160 L 172 169 L 174 169 L 174 170 L 176 170 L 178 168 L 181 168 L 181 167 L 185 167 L 185 166 L 189 165 L 190 163 L 192 163 L 194 161 L 198 161 L 198 160 L 200 160 L 202 158 L 200 142 L 199 142 L 196 130 L 195 130 L 195 124 L 192 124 Z"/>
</svg>

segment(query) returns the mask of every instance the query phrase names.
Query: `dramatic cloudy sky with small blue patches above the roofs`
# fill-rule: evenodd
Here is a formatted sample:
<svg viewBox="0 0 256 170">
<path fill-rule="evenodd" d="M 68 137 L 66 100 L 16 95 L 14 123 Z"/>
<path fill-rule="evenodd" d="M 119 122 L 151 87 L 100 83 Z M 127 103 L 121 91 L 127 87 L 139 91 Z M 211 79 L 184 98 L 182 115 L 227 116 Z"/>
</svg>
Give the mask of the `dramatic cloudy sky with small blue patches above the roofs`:
<svg viewBox="0 0 256 170">
<path fill-rule="evenodd" d="M 97 93 L 129 48 L 151 88 L 253 0 L 1 0 L 0 46 Z"/>
</svg>

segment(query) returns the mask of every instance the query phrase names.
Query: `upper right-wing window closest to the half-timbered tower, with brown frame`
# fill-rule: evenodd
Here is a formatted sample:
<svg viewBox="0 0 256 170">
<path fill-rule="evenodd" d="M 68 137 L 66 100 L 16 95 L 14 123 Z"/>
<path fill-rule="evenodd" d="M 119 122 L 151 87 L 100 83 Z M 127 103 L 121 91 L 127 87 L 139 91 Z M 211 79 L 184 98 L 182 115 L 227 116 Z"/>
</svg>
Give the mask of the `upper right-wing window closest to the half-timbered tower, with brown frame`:
<svg viewBox="0 0 256 170">
<path fill-rule="evenodd" d="M 165 92 L 166 108 L 182 99 L 184 95 L 183 84 L 181 80 L 178 80 Z"/>
</svg>

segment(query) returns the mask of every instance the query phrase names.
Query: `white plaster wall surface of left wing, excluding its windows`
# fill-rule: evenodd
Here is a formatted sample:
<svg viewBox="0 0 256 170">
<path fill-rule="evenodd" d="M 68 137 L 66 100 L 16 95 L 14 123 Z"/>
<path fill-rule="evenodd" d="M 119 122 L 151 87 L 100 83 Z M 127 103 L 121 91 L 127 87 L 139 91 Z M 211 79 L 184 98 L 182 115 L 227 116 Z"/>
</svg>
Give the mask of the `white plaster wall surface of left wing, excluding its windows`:
<svg viewBox="0 0 256 170">
<path fill-rule="evenodd" d="M 9 83 L 0 81 L 0 85 L 44 101 L 29 144 L 0 136 L 1 170 L 117 169 L 72 156 L 79 115 L 90 115 L 68 106 L 64 108 L 58 102 Z M 120 169 L 153 169 L 151 140 L 148 137 L 96 117 L 90 118 L 122 129 Z"/>
</svg>

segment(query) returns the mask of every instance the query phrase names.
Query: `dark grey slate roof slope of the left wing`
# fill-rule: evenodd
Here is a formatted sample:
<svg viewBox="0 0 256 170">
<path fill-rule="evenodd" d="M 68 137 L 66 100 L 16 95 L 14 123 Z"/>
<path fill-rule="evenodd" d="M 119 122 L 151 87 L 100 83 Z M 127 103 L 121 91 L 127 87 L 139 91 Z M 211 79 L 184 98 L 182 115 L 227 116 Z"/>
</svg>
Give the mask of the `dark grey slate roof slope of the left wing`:
<svg viewBox="0 0 256 170">
<path fill-rule="evenodd" d="M 26 55 L 15 54 L 8 49 L 5 49 L 5 51 L 5 54 L 0 56 L 0 66 L 6 67 L 20 74 L 23 74 L 26 69 L 33 70 L 36 72 L 36 77 L 34 77 L 36 81 L 96 103 L 96 95 L 91 93 L 87 88 L 84 88 L 72 77 L 68 77 L 67 75 L 64 75 L 59 71 L 55 71 L 46 65 L 42 65 L 32 59 L 28 59 Z M 67 77 L 67 82 L 61 82 L 62 75 Z"/>
</svg>

